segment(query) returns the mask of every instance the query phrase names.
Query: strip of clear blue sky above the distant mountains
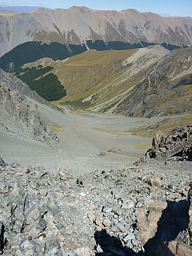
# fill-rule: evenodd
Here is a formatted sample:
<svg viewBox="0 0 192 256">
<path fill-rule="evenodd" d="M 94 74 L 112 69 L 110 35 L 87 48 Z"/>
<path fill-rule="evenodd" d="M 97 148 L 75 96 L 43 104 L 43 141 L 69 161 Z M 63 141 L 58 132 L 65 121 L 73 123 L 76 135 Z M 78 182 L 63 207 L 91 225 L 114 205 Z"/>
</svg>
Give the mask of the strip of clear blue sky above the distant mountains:
<svg viewBox="0 0 192 256">
<path fill-rule="evenodd" d="M 140 12 L 192 17 L 192 0 L 0 0 L 0 4 L 39 6 L 52 9 L 65 9 L 76 5 L 92 9 L 116 9 L 118 11 L 134 8 Z"/>
</svg>

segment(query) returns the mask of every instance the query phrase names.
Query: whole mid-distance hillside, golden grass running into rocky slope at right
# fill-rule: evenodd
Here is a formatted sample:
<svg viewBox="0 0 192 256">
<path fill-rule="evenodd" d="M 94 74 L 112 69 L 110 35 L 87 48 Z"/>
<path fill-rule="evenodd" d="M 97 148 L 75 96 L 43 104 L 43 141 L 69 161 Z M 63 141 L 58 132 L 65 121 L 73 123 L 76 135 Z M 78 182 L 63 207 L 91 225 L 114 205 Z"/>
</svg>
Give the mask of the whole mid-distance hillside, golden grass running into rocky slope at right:
<svg viewBox="0 0 192 256">
<path fill-rule="evenodd" d="M 127 116 L 191 114 L 191 49 L 158 55 L 159 51 L 162 47 L 89 50 L 68 60 L 42 59 L 24 68 L 53 68 L 67 92 L 55 105 Z M 180 75 L 183 72 L 185 76 Z"/>
</svg>

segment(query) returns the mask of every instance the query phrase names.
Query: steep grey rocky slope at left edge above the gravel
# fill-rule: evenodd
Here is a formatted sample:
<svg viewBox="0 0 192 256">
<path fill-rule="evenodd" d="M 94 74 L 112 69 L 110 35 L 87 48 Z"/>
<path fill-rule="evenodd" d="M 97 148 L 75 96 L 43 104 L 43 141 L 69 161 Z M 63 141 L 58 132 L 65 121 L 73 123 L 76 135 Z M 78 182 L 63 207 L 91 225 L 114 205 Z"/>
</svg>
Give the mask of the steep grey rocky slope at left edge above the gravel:
<svg viewBox="0 0 192 256">
<path fill-rule="evenodd" d="M 25 95 L 33 97 L 26 84 L 11 74 L 0 71 L 0 126 L 7 132 L 33 137 L 49 145 L 57 144 L 57 137 L 41 121 L 37 106 Z M 40 97 L 39 97 L 40 98 Z"/>
</svg>

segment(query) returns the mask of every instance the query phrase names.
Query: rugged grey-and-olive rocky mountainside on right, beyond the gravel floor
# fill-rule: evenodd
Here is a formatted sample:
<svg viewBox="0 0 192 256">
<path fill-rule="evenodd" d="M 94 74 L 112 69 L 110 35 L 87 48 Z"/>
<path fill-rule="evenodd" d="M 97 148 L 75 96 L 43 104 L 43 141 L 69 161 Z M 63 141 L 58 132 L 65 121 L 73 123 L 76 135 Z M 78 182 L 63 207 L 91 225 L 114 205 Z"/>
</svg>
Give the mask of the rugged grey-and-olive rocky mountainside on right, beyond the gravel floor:
<svg viewBox="0 0 192 256">
<path fill-rule="evenodd" d="M 191 111 L 192 49 L 175 50 L 137 84 L 121 111 L 127 116 L 165 116 Z"/>
</svg>

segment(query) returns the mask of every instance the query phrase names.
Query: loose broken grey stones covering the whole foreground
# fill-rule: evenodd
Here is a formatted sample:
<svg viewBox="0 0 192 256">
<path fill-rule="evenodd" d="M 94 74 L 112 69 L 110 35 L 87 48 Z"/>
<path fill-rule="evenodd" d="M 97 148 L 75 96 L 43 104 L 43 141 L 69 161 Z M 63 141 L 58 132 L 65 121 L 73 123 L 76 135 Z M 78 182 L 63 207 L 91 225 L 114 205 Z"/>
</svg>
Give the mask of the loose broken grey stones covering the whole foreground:
<svg viewBox="0 0 192 256">
<path fill-rule="evenodd" d="M 191 162 L 75 178 L 0 161 L 3 255 L 192 255 Z"/>
</svg>

